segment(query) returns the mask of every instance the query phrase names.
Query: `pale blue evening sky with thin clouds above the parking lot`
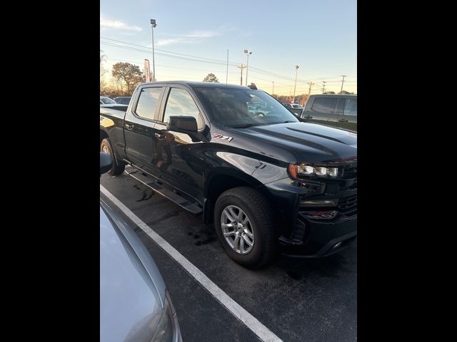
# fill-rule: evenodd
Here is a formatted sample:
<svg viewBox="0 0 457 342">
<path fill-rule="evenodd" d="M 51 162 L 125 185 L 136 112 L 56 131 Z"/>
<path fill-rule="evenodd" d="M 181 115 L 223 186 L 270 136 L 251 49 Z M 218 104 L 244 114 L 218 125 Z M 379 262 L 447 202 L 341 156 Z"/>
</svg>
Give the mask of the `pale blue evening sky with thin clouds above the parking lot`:
<svg viewBox="0 0 457 342">
<path fill-rule="evenodd" d="M 100 49 L 109 79 L 119 61 L 152 71 L 154 28 L 157 81 L 240 84 L 248 57 L 248 84 L 292 95 L 343 90 L 357 93 L 356 0 L 100 0 Z M 229 68 L 227 76 L 227 50 Z M 298 66 L 298 68 L 295 68 Z M 246 68 L 243 69 L 243 85 Z"/>
</svg>

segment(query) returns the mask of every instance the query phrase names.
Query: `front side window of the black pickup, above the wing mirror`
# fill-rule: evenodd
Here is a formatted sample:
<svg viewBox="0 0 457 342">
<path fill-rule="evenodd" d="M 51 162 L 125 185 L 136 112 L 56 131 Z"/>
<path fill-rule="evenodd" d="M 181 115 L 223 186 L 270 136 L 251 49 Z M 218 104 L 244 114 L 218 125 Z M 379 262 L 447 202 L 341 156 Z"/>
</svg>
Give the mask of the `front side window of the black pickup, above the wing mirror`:
<svg viewBox="0 0 457 342">
<path fill-rule="evenodd" d="M 171 88 L 169 98 L 166 101 L 164 123 L 169 122 L 171 115 L 193 116 L 197 120 L 199 130 L 204 128 L 199 108 L 187 90 Z"/>
</svg>

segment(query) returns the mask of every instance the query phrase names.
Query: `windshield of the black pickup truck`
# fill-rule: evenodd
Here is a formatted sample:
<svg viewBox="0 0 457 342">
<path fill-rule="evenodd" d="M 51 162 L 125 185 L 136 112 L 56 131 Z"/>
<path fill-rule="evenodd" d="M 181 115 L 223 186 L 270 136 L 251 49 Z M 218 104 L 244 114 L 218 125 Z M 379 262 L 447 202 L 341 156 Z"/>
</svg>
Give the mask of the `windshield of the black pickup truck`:
<svg viewBox="0 0 457 342">
<path fill-rule="evenodd" d="M 251 89 L 197 88 L 211 117 L 222 125 L 246 128 L 276 123 L 298 123 L 281 103 Z"/>
</svg>

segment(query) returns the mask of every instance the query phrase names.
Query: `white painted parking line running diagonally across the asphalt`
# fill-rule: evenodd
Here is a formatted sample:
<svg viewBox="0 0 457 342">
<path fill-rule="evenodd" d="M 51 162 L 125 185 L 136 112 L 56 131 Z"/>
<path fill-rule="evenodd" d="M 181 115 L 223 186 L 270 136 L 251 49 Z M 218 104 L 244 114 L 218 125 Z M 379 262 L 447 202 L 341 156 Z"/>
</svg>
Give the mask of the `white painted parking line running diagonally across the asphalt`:
<svg viewBox="0 0 457 342">
<path fill-rule="evenodd" d="M 248 313 L 243 307 L 241 307 L 236 301 L 233 301 L 222 291 L 219 286 L 214 284 L 202 271 L 200 271 L 191 261 L 187 260 L 181 253 L 179 253 L 174 247 L 171 246 L 168 242 L 161 238 L 159 234 L 154 232 L 146 223 L 141 221 L 139 217 L 136 216 L 131 210 L 126 207 L 119 199 L 111 195 L 111 193 L 106 190 L 102 185 L 100 185 L 100 191 L 108 197 L 111 202 L 113 202 L 124 214 L 126 214 L 129 219 L 134 222 L 138 227 L 140 227 L 146 234 L 153 239 L 153 241 L 164 249 L 166 253 L 169 254 L 178 264 L 180 264 L 191 276 L 198 281 L 201 286 L 203 286 L 206 291 L 208 291 L 214 298 L 219 301 L 227 310 L 231 312 L 233 316 L 238 318 L 246 327 L 251 329 L 262 341 L 265 342 L 280 342 L 281 338 L 278 338 L 273 332 L 271 332 L 266 326 L 257 320 L 254 316 Z"/>
</svg>

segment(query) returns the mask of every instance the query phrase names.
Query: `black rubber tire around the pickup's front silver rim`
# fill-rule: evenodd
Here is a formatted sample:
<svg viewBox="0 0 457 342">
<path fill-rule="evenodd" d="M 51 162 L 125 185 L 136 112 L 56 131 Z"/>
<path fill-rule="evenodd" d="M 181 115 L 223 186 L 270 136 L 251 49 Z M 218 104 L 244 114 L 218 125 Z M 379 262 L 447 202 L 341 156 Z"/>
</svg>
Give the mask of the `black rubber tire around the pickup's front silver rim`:
<svg viewBox="0 0 457 342">
<path fill-rule="evenodd" d="M 253 247 L 247 254 L 235 252 L 224 237 L 221 215 L 229 205 L 243 210 L 251 222 L 254 240 Z M 266 198 L 252 187 L 235 187 L 219 196 L 214 207 L 214 227 L 222 247 L 238 264 L 256 269 L 273 260 L 276 253 L 276 238 L 271 206 Z"/>
</svg>

